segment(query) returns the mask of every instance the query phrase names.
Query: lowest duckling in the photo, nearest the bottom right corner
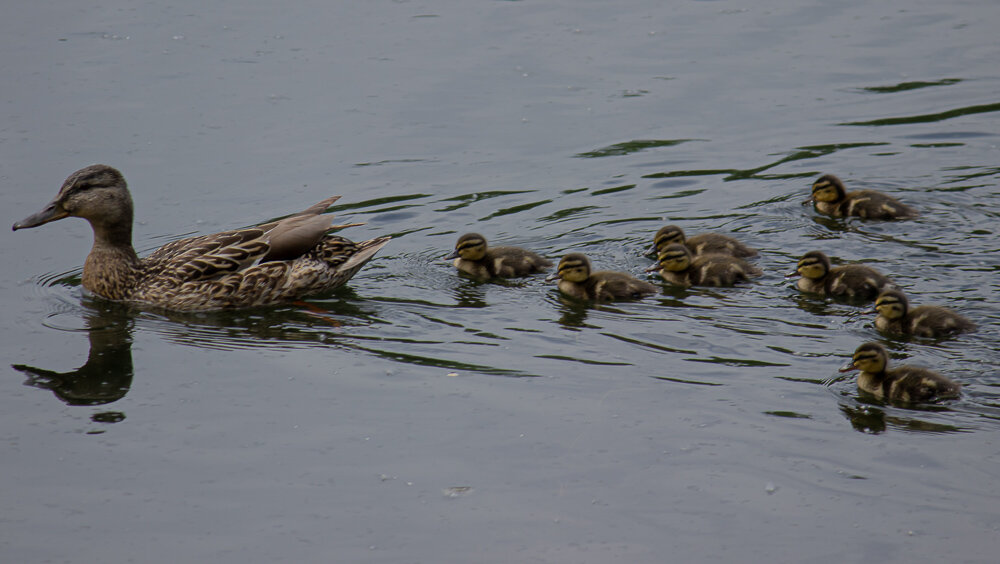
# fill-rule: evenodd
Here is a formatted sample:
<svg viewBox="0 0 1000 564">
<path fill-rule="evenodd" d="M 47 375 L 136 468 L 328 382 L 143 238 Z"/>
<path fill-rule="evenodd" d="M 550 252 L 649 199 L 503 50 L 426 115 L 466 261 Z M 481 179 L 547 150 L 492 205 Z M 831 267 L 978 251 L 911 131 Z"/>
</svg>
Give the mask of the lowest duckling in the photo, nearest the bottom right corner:
<svg viewBox="0 0 1000 564">
<path fill-rule="evenodd" d="M 851 364 L 841 372 L 860 370 L 858 387 L 875 397 L 913 403 L 955 398 L 961 386 L 926 368 L 903 365 L 888 369 L 889 354 L 878 343 L 865 343 L 854 351 Z"/>
</svg>

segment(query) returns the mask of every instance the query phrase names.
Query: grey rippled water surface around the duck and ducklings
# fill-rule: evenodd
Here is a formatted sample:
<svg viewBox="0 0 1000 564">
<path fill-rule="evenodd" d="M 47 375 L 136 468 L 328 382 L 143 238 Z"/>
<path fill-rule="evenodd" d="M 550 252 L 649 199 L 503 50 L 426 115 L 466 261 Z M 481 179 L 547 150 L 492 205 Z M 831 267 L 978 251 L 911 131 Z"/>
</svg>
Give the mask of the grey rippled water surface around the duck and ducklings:
<svg viewBox="0 0 1000 564">
<path fill-rule="evenodd" d="M 294 305 L 88 299 L 82 220 L 0 238 L 4 562 L 995 562 L 1000 4 L 47 2 L 0 20 L 7 224 L 119 167 L 136 247 L 343 194 L 394 241 Z M 812 179 L 915 221 L 800 206 Z M 737 234 L 752 286 L 587 308 L 447 262 L 478 231 L 642 275 Z M 886 341 L 820 249 L 981 330 Z M 965 384 L 866 403 L 863 341 Z M 21 366 L 15 370 L 11 365 Z"/>
</svg>

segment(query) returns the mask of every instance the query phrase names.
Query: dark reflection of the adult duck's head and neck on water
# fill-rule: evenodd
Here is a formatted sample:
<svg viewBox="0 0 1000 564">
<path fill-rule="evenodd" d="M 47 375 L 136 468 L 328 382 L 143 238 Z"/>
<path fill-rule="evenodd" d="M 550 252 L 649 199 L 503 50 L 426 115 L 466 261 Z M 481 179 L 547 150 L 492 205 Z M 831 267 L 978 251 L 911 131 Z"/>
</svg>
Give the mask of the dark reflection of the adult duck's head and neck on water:
<svg viewBox="0 0 1000 564">
<path fill-rule="evenodd" d="M 87 315 L 90 354 L 76 370 L 55 372 L 25 364 L 14 364 L 14 369 L 28 376 L 25 385 L 51 390 L 68 405 L 104 405 L 120 400 L 132 386 L 134 373 L 132 320 L 122 309 L 112 304 Z"/>
</svg>

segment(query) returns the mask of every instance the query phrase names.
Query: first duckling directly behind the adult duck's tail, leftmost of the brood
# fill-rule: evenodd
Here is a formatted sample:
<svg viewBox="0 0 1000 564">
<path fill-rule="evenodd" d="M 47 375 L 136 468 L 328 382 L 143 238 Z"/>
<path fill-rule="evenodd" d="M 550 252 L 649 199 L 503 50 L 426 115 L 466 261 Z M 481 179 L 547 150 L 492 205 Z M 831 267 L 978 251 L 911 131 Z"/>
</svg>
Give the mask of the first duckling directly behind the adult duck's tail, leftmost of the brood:
<svg viewBox="0 0 1000 564">
<path fill-rule="evenodd" d="M 486 238 L 466 233 L 455 243 L 455 268 L 476 278 L 512 278 L 542 272 L 552 261 L 520 247 L 487 247 Z"/>
</svg>

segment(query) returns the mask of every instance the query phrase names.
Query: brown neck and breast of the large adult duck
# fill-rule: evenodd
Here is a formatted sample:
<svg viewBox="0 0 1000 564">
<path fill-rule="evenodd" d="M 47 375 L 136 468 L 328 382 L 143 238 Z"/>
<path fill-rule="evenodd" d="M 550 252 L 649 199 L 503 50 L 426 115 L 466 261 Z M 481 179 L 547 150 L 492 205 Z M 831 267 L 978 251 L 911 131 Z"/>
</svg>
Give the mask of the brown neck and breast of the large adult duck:
<svg viewBox="0 0 1000 564">
<path fill-rule="evenodd" d="M 91 222 L 94 246 L 83 263 L 83 287 L 107 299 L 124 300 L 142 270 L 132 248 L 132 222 L 100 224 Z"/>
</svg>

